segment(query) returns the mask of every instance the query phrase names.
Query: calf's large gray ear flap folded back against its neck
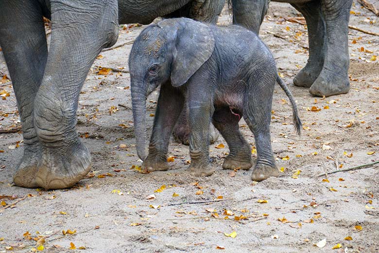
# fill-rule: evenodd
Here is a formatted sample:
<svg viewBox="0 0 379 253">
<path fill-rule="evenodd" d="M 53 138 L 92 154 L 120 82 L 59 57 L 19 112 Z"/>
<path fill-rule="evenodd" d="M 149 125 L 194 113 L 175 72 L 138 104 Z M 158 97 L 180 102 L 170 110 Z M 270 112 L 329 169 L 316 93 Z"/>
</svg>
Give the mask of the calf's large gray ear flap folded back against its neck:
<svg viewBox="0 0 379 253">
<path fill-rule="evenodd" d="M 171 84 L 178 87 L 185 84 L 212 55 L 214 36 L 206 24 L 189 18 L 166 19 L 159 23 L 161 25 L 177 29 L 173 39 Z"/>
</svg>

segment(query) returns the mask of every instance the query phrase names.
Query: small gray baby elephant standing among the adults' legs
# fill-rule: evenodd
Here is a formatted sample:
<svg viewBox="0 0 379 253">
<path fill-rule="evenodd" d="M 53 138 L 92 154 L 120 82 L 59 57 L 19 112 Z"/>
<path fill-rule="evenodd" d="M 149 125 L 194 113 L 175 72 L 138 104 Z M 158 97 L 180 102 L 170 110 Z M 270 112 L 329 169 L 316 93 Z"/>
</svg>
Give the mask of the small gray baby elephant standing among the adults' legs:
<svg viewBox="0 0 379 253">
<path fill-rule="evenodd" d="M 138 36 L 130 53 L 129 69 L 137 153 L 144 161 L 143 169 L 168 169 L 166 154 L 172 129 L 183 106 L 188 106 L 191 175 L 209 176 L 214 172 L 208 151 L 211 120 L 229 145 L 230 154 L 223 168 L 249 169 L 253 165 L 250 145 L 239 130 L 242 116 L 257 146 L 252 180 L 278 175 L 270 138 L 276 82 L 292 103 L 297 133 L 301 122 L 290 90 L 277 75 L 272 54 L 253 32 L 188 18 L 166 19 L 150 25 Z M 146 99 L 159 85 L 146 157 Z"/>
</svg>

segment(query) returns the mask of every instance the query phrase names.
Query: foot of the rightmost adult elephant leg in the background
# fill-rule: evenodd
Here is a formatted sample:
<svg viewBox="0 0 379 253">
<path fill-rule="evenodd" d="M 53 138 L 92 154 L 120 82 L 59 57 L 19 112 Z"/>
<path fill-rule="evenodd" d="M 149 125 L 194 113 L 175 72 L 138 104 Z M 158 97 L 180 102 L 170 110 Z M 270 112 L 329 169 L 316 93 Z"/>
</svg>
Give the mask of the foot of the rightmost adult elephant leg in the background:
<svg viewBox="0 0 379 253">
<path fill-rule="evenodd" d="M 325 69 L 310 87 L 310 93 L 314 96 L 332 96 L 345 94 L 350 90 L 349 79 L 346 75 L 328 72 Z"/>
</svg>

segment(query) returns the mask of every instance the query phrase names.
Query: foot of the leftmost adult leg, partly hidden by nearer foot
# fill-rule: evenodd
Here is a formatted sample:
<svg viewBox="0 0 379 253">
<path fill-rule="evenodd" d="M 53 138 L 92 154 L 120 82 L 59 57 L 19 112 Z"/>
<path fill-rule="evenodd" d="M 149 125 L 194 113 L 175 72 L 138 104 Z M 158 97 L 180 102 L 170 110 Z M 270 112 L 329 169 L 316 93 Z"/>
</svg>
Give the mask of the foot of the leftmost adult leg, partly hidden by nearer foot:
<svg viewBox="0 0 379 253">
<path fill-rule="evenodd" d="M 24 147 L 24 155 L 20 163 L 17 165 L 16 173 L 13 176 L 13 181 L 17 186 L 25 188 L 37 188 L 38 184 L 35 181 L 35 174 L 38 171 L 38 162 L 41 157 L 39 145 Z"/>
</svg>

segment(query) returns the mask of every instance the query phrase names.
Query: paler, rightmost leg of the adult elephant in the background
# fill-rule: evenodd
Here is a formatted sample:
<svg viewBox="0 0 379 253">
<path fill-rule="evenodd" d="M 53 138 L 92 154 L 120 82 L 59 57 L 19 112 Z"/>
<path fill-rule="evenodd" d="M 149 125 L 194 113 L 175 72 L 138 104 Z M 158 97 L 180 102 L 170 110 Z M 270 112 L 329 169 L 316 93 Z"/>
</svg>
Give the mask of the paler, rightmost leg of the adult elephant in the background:
<svg viewBox="0 0 379 253">
<path fill-rule="evenodd" d="M 310 87 L 315 96 L 347 93 L 350 89 L 348 23 L 352 0 L 321 0 L 327 25 L 327 54 L 323 70 Z"/>
</svg>

